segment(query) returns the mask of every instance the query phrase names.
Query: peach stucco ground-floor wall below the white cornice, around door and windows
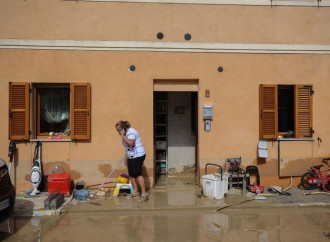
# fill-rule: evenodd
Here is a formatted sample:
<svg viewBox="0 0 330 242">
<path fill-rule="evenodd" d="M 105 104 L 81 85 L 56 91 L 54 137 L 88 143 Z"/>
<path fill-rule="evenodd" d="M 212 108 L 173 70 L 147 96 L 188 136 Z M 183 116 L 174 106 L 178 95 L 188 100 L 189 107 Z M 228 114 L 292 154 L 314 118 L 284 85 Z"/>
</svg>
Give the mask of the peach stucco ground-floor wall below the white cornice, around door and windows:
<svg viewBox="0 0 330 242">
<path fill-rule="evenodd" d="M 316 58 L 317 57 L 317 58 Z M 199 80 L 199 159 L 201 170 L 207 162 L 223 164 L 228 157 L 242 156 L 244 165 L 257 164 L 259 139 L 258 86 L 261 83 L 314 85 L 314 137 L 323 143 L 310 145 L 314 158 L 329 155 L 329 82 L 324 69 L 329 56 L 192 54 L 91 51 L 1 51 L 0 112 L 3 136 L 1 157 L 6 157 L 8 82 L 90 82 L 92 86 L 92 138 L 90 142 L 44 143 L 45 172 L 57 162 L 74 179 L 97 183 L 123 155 L 114 124 L 130 120 L 143 138 L 148 153 L 147 176 L 153 176 L 153 79 Z M 135 64 L 135 72 L 128 66 Z M 297 63 L 304 68 L 294 68 Z M 221 64 L 224 72 L 217 72 Z M 210 89 L 210 97 L 204 90 Z M 212 131 L 203 131 L 202 105 L 213 105 Z M 329 111 L 329 110 L 328 110 Z M 17 182 L 29 184 L 33 154 L 30 143 L 18 144 Z M 290 149 L 292 159 L 304 156 L 304 149 Z M 311 158 L 311 157 L 309 157 Z M 258 164 L 261 175 L 277 178 L 277 143 L 269 143 L 269 158 Z M 317 161 L 317 159 L 316 159 Z M 47 169 L 46 169 L 47 168 Z M 121 167 L 125 170 L 125 166 Z"/>
</svg>

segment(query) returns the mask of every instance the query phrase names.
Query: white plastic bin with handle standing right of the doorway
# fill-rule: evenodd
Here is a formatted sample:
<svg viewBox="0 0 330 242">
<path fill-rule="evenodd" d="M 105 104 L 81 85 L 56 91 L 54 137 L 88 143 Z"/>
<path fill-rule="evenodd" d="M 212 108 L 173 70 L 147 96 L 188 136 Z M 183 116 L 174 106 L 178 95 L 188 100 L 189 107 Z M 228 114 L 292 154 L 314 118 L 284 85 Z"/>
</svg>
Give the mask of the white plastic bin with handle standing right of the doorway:
<svg viewBox="0 0 330 242">
<path fill-rule="evenodd" d="M 202 176 L 203 195 L 213 199 L 221 199 L 228 192 L 228 177 L 219 173 Z"/>
</svg>

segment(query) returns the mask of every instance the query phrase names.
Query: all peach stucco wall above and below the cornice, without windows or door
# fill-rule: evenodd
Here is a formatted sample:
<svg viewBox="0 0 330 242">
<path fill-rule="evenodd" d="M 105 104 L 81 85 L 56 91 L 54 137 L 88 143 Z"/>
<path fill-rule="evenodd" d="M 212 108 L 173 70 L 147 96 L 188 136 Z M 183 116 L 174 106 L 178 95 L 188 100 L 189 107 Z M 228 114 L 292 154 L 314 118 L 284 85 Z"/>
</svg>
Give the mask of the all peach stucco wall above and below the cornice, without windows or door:
<svg viewBox="0 0 330 242">
<path fill-rule="evenodd" d="M 328 8 L 0 1 L 1 39 L 156 41 L 161 31 L 164 42 L 184 41 L 189 32 L 191 42 L 329 44 L 329 22 Z M 128 71 L 132 64 L 135 72 Z M 207 162 L 242 156 L 244 166 L 258 165 L 263 185 L 286 184 L 278 178 L 277 142 L 268 143 L 266 161 L 257 159 L 259 84 L 312 84 L 315 90 L 315 141 L 281 147 L 281 169 L 290 175 L 330 156 L 329 66 L 328 54 L 0 49 L 0 157 L 8 161 L 10 81 L 90 82 L 91 141 L 44 142 L 44 172 L 60 164 L 74 180 L 102 182 L 124 154 L 114 124 L 127 119 L 142 136 L 148 154 L 144 174 L 152 185 L 153 80 L 197 79 L 201 174 Z M 214 107 L 211 132 L 203 130 L 203 105 Z M 34 143 L 17 148 L 14 181 L 18 190 L 28 189 Z M 124 164 L 113 177 L 122 172 Z"/>
</svg>

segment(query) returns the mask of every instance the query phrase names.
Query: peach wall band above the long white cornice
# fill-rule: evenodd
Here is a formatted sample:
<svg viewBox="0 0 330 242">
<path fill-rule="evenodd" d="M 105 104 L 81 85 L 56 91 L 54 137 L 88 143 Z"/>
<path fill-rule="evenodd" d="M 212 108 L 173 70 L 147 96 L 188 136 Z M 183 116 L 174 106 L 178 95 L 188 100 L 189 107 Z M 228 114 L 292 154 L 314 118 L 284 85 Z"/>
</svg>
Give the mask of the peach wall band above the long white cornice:
<svg viewBox="0 0 330 242">
<path fill-rule="evenodd" d="M 1 0 L 0 38 L 328 44 L 329 8 Z"/>
</svg>

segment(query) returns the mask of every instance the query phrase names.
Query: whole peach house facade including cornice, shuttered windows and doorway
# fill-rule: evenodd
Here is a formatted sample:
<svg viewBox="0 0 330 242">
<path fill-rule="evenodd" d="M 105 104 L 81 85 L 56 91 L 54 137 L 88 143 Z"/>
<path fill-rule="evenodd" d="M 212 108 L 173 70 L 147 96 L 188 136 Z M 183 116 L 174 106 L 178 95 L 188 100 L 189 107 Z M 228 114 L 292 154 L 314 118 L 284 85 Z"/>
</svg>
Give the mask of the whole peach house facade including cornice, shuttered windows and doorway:
<svg viewBox="0 0 330 242">
<path fill-rule="evenodd" d="M 298 185 L 330 156 L 330 1 L 255 2 L 0 1 L 0 157 L 16 140 L 17 190 L 36 140 L 44 174 L 103 181 L 124 155 L 119 120 L 140 132 L 149 187 L 233 157 L 262 185 Z"/>
</svg>

